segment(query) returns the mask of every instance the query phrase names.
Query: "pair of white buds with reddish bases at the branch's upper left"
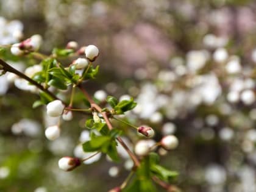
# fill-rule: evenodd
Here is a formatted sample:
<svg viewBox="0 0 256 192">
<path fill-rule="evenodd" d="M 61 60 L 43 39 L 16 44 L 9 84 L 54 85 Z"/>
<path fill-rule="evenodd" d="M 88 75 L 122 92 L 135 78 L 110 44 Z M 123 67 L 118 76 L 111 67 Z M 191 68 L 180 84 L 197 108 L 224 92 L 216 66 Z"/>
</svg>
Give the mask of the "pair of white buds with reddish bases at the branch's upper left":
<svg viewBox="0 0 256 192">
<path fill-rule="evenodd" d="M 10 51 L 13 55 L 23 55 L 26 51 L 37 51 L 42 43 L 41 35 L 32 35 L 21 43 L 15 43 L 12 45 Z"/>
</svg>

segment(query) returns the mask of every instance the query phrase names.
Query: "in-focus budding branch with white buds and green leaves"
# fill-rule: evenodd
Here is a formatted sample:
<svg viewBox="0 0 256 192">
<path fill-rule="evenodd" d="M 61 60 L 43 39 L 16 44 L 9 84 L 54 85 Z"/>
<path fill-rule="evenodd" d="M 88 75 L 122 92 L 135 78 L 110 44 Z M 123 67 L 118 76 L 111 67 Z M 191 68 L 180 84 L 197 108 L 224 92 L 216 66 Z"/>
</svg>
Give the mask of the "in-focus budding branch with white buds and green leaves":
<svg viewBox="0 0 256 192">
<path fill-rule="evenodd" d="M 82 134 L 87 134 L 82 139 L 82 145 L 77 146 L 77 157 L 62 157 L 59 160 L 59 168 L 64 171 L 73 171 L 82 163 L 94 162 L 102 154 L 106 154 L 109 160 L 120 162 L 120 146 L 123 148 L 127 160 L 132 160 L 130 174 L 118 187 L 110 191 L 156 191 L 154 182 L 165 188 L 166 191 L 179 191 L 170 182 L 177 176 L 176 171 L 170 171 L 160 165 L 159 155 L 154 152 L 157 148 L 163 150 L 175 149 L 178 140 L 174 135 L 163 137 L 162 140 L 146 140 L 155 135 L 154 129 L 149 126 L 134 126 L 122 117 L 125 113 L 133 110 L 137 102 L 131 97 L 123 97 L 118 101 L 114 96 L 107 96 L 104 91 L 95 93 L 91 97 L 86 90 L 86 82 L 97 77 L 99 65 L 94 62 L 99 56 L 99 49 L 94 45 L 77 48 L 77 43 L 69 42 L 64 49 L 54 48 L 51 55 L 38 52 L 43 43 L 40 35 L 10 45 L 10 48 L 2 48 L 6 59 L 11 53 L 18 57 L 34 57 L 40 63 L 24 69 L 24 72 L 13 68 L 5 59 L 0 60 L 1 73 L 3 76 L 15 74 L 13 82 L 21 90 L 31 91 L 38 95 L 33 108 L 46 105 L 46 114 L 50 118 L 57 119 L 57 123 L 46 127 L 45 136 L 48 140 L 57 140 L 62 135 L 61 124 L 70 121 L 75 114 L 82 113 L 87 116 Z M 69 65 L 60 62 L 60 59 L 76 57 Z M 76 89 L 84 94 L 84 107 L 76 107 Z M 57 95 L 60 91 L 69 91 L 69 102 L 63 101 Z M 66 93 L 68 94 L 68 93 Z M 114 124 L 115 123 L 115 126 Z M 126 127 L 121 127 L 124 124 Z M 130 132 L 129 129 L 135 129 Z M 132 138 L 129 134 L 132 133 Z M 130 142 L 136 141 L 137 142 Z M 143 138 L 143 140 L 140 140 Z M 130 140 L 127 146 L 125 140 Z M 133 143 L 133 144 L 132 144 Z M 133 153 L 133 148 L 134 152 Z M 90 154 L 90 155 L 87 155 Z M 96 158 L 97 157 L 97 158 Z M 115 175 L 115 169 L 110 169 L 110 175 Z"/>
</svg>

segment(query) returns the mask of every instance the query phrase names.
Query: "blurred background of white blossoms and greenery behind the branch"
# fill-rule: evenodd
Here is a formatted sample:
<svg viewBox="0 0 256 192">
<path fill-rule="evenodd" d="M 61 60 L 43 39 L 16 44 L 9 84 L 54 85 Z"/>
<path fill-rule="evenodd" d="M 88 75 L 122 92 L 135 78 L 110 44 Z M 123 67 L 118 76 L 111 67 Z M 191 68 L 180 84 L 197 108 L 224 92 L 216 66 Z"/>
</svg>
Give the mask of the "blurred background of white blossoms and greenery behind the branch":
<svg viewBox="0 0 256 192">
<path fill-rule="evenodd" d="M 158 152 L 180 172 L 174 184 L 183 191 L 256 191 L 255 1 L 1 0 L 0 15 L 1 44 L 17 41 L 14 30 L 40 34 L 45 54 L 71 40 L 96 44 L 101 71 L 89 92 L 132 96 L 138 106 L 125 118 L 154 127 L 155 140 L 179 138 L 176 150 Z M 126 157 L 59 170 L 59 158 L 87 140 L 87 117 L 75 116 L 48 141 L 45 110 L 31 107 L 37 95 L 11 79 L 0 77 L 0 191 L 107 191 L 126 178 Z"/>
</svg>

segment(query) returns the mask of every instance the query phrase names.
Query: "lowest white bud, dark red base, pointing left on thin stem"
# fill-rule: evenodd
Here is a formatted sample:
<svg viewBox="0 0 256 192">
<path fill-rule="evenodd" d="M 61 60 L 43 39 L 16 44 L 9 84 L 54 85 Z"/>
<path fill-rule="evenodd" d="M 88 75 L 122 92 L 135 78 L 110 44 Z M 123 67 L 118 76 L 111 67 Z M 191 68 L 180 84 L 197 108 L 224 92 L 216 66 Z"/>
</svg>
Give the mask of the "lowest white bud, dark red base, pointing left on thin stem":
<svg viewBox="0 0 256 192">
<path fill-rule="evenodd" d="M 79 158 L 62 157 L 59 160 L 59 168 L 62 169 L 63 171 L 72 171 L 80 164 L 81 160 Z"/>
</svg>

